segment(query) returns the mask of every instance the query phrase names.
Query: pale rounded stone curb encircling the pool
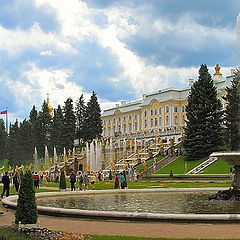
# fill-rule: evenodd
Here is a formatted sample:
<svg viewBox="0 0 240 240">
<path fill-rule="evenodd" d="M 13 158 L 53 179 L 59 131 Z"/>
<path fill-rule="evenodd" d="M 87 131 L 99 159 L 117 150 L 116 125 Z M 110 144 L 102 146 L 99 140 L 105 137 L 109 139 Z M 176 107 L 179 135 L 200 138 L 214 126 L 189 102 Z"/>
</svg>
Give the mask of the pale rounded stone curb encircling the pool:
<svg viewBox="0 0 240 240">
<path fill-rule="evenodd" d="M 184 192 L 184 191 L 211 191 L 223 190 L 223 188 L 155 188 L 155 189 L 123 189 L 123 190 L 89 190 L 74 192 L 46 192 L 37 193 L 36 197 L 54 197 L 66 195 L 88 195 L 88 194 L 109 194 L 109 193 L 130 193 L 130 192 Z M 2 204 L 10 208 L 16 209 L 17 195 L 9 196 L 2 199 Z M 162 214 L 147 212 L 118 212 L 118 211 L 95 211 L 80 209 L 63 209 L 53 207 L 37 207 L 38 212 L 45 215 L 58 215 L 64 217 L 89 217 L 89 218 L 107 218 L 107 219 L 129 219 L 144 221 L 190 221 L 190 222 L 229 222 L 240 221 L 240 214 Z"/>
</svg>

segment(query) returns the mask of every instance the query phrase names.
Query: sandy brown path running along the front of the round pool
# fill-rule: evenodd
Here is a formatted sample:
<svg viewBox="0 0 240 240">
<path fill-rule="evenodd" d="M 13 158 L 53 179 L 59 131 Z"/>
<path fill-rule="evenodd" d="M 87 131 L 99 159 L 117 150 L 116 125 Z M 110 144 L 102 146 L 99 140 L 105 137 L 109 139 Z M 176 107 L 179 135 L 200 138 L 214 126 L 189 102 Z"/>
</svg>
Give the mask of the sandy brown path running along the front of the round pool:
<svg viewBox="0 0 240 240">
<path fill-rule="evenodd" d="M 11 225 L 14 210 L 0 204 L 0 226 Z M 109 236 L 138 236 L 153 238 L 215 238 L 240 239 L 240 224 L 177 224 L 140 223 L 124 221 L 95 221 L 39 215 L 41 227 L 66 232 Z"/>
</svg>

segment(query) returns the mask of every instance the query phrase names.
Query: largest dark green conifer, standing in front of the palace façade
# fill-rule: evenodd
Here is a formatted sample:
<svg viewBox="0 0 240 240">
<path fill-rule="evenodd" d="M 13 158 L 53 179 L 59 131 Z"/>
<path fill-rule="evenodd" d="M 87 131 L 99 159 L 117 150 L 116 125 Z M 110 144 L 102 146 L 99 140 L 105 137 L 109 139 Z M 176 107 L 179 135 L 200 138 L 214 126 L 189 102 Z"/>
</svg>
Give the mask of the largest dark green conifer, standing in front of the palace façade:
<svg viewBox="0 0 240 240">
<path fill-rule="evenodd" d="M 201 65 L 191 88 L 186 115 L 183 147 L 188 160 L 206 157 L 222 146 L 221 103 L 206 65 Z"/>
</svg>

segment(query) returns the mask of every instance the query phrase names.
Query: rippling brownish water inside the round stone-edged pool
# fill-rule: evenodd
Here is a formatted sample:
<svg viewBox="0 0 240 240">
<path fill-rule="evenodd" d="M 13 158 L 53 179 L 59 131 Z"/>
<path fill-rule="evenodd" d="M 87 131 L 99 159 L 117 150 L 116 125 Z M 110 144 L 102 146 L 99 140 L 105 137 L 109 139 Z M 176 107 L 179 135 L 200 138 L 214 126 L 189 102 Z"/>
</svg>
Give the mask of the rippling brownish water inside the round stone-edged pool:
<svg viewBox="0 0 240 240">
<path fill-rule="evenodd" d="M 37 199 L 38 206 L 150 213 L 240 213 L 240 202 L 208 200 L 215 192 L 141 192 Z"/>
</svg>

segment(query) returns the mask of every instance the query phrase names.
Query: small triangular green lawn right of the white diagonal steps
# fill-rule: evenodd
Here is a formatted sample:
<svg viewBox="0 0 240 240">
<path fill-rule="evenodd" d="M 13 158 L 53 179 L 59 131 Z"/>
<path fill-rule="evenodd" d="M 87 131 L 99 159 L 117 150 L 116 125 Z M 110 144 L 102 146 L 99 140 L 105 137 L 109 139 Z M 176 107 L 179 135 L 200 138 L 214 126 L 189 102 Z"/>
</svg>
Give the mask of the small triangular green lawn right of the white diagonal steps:
<svg viewBox="0 0 240 240">
<path fill-rule="evenodd" d="M 205 168 L 202 171 L 202 174 L 229 174 L 231 167 L 232 166 L 229 165 L 223 158 L 220 158 L 209 167 Z"/>
</svg>

